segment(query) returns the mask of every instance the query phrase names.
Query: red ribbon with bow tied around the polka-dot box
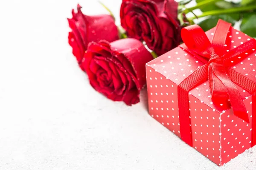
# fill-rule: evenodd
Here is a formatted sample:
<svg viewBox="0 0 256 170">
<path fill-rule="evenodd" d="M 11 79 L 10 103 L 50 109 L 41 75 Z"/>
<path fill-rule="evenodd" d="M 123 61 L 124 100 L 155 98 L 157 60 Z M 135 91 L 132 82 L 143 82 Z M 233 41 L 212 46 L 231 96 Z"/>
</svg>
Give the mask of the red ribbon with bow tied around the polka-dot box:
<svg viewBox="0 0 256 170">
<path fill-rule="evenodd" d="M 221 105 L 223 110 L 232 107 L 234 115 L 245 122 L 249 122 L 249 117 L 243 99 L 234 83 L 252 94 L 253 130 L 251 144 L 252 146 L 256 144 L 256 83 L 230 68 L 253 52 L 252 49 L 256 48 L 256 40 L 252 39 L 226 52 L 223 49 L 224 45 L 228 43 L 226 39 L 230 27 L 230 23 L 219 20 L 212 43 L 198 25 L 188 26 L 181 30 L 181 37 L 186 45 L 183 44 L 180 47 L 185 48 L 186 51 L 204 63 L 178 85 L 180 135 L 181 139 L 190 146 L 192 146 L 192 134 L 188 92 L 207 80 L 209 80 L 214 105 L 219 108 Z"/>
</svg>

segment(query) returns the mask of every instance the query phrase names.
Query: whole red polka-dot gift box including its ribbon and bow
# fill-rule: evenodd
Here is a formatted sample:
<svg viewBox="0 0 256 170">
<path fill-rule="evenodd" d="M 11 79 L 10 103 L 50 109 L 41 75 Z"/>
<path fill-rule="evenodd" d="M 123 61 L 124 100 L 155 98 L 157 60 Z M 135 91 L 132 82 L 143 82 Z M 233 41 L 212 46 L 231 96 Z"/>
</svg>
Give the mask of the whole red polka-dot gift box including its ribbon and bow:
<svg viewBox="0 0 256 170">
<path fill-rule="evenodd" d="M 146 64 L 150 115 L 222 166 L 256 144 L 256 40 L 219 20 Z"/>
</svg>

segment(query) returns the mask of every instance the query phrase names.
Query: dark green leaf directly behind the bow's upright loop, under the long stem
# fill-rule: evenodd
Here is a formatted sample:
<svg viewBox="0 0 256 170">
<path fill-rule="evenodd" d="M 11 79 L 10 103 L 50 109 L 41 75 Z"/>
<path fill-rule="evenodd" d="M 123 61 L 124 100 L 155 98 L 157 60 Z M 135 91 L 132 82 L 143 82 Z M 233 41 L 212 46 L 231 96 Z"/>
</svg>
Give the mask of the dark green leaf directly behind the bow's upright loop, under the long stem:
<svg viewBox="0 0 256 170">
<path fill-rule="evenodd" d="M 240 14 L 214 15 L 201 21 L 200 23 L 198 23 L 198 25 L 201 26 L 204 31 L 208 31 L 209 29 L 217 25 L 219 19 L 227 21 L 228 23 L 234 25 L 240 19 Z"/>
</svg>

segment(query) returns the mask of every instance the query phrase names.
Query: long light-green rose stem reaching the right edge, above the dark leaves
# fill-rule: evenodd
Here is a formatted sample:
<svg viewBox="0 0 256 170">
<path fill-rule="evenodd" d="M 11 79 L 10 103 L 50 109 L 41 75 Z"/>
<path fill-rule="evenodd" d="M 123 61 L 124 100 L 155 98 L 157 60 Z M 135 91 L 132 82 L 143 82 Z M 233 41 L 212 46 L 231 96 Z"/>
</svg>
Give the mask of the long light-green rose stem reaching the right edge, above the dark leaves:
<svg viewBox="0 0 256 170">
<path fill-rule="evenodd" d="M 229 9 L 221 9 L 221 10 L 213 10 L 213 11 L 206 11 L 201 15 L 198 15 L 197 17 L 206 17 L 209 15 L 220 15 L 220 14 L 231 14 L 231 13 L 238 13 L 243 11 L 252 11 L 256 9 L 256 5 L 253 6 L 241 6 L 236 8 L 229 8 Z M 189 18 L 189 20 L 193 20 L 196 17 Z"/>
</svg>

